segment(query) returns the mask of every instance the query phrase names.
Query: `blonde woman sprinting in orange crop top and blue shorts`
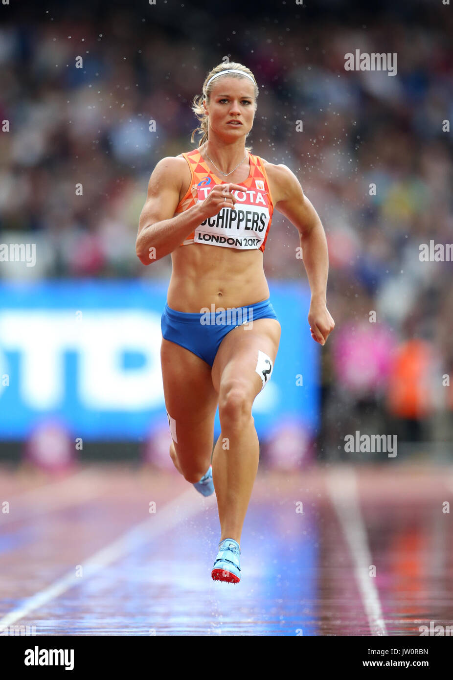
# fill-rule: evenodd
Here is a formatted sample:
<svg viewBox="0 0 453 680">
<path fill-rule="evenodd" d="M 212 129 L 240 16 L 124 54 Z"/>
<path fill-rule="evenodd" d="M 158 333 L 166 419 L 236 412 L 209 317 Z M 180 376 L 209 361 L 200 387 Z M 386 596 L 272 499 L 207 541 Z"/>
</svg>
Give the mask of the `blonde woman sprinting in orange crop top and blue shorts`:
<svg viewBox="0 0 453 680">
<path fill-rule="evenodd" d="M 318 214 L 288 167 L 245 146 L 256 97 L 254 76 L 241 64 L 222 63 L 207 75 L 203 97 L 192 105 L 201 127 L 191 141 L 200 130 L 199 147 L 157 163 L 136 243 L 144 265 L 171 254 L 161 320 L 170 456 L 199 492 L 216 492 L 221 535 L 212 578 L 230 583 L 241 576 L 239 543 L 258 470 L 252 404 L 280 343 L 263 271 L 274 208 L 299 231 L 312 338 L 324 345 L 335 326 L 326 308 L 327 245 Z M 213 452 L 217 406 L 221 433 Z"/>
</svg>

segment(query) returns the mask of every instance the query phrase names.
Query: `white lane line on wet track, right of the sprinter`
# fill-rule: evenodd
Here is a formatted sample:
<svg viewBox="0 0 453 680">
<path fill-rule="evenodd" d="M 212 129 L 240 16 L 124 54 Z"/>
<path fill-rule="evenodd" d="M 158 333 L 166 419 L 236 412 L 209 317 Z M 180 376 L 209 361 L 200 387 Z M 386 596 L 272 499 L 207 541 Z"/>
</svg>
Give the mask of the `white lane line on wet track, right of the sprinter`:
<svg viewBox="0 0 453 680">
<path fill-rule="evenodd" d="M 388 635 L 375 579 L 369 576 L 369 566 L 373 560 L 358 503 L 356 473 L 352 466 L 344 465 L 341 469 L 330 470 L 326 483 L 354 560 L 354 575 L 371 635 Z"/>
</svg>

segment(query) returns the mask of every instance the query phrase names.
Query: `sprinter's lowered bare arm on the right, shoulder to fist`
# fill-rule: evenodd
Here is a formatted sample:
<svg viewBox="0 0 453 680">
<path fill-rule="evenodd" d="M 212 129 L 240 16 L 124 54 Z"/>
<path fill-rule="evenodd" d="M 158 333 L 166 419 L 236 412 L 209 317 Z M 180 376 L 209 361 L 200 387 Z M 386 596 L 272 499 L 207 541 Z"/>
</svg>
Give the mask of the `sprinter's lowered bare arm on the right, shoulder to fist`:
<svg viewBox="0 0 453 680">
<path fill-rule="evenodd" d="M 274 165 L 272 177 L 278 195 L 278 202 L 274 207 L 299 231 L 303 264 L 312 292 L 308 322 L 312 338 L 324 345 L 335 327 L 326 307 L 329 255 L 324 228 L 318 213 L 303 193 L 296 175 L 286 165 Z"/>
</svg>

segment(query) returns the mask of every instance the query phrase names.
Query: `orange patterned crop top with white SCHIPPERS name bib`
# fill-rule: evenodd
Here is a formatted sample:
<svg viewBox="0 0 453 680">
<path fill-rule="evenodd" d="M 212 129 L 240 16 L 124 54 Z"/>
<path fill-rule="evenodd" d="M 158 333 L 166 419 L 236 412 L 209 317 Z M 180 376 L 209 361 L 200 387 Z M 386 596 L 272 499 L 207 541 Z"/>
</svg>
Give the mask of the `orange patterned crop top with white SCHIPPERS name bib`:
<svg viewBox="0 0 453 680">
<path fill-rule="evenodd" d="M 181 155 L 186 158 L 192 178 L 175 214 L 204 201 L 216 184 L 228 184 L 209 170 L 198 149 Z M 235 208 L 225 207 L 214 217 L 201 222 L 180 245 L 207 243 L 223 248 L 264 252 L 272 221 L 273 202 L 263 160 L 254 154 L 249 153 L 248 156 L 250 173 L 244 182 L 237 182 L 244 186 L 244 191 L 234 192 L 237 199 Z"/>
</svg>

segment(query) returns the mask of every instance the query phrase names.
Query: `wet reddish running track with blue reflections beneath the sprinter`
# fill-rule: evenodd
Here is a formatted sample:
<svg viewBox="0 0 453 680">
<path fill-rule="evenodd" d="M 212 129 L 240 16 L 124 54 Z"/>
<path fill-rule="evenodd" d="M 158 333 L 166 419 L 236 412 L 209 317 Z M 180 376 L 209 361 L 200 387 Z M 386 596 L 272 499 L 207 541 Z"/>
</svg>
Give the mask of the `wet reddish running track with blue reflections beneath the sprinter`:
<svg viewBox="0 0 453 680">
<path fill-rule="evenodd" d="M 211 579 L 215 496 L 178 473 L 98 464 L 56 479 L 3 467 L 0 629 L 420 635 L 453 624 L 452 496 L 453 466 L 260 471 L 232 585 Z"/>
</svg>

